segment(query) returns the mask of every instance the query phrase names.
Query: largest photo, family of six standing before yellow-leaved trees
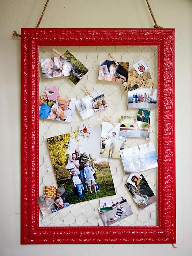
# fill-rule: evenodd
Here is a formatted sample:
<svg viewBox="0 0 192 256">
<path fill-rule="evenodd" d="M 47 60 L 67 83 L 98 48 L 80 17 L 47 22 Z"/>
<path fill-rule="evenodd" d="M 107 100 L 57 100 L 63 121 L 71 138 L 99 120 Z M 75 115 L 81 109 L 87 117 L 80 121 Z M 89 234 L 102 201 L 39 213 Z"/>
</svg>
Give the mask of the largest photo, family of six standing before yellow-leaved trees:
<svg viewBox="0 0 192 256">
<path fill-rule="evenodd" d="M 108 158 L 99 156 L 100 137 L 97 126 L 90 137 L 77 131 L 47 138 L 57 184 L 71 204 L 116 194 Z"/>
</svg>

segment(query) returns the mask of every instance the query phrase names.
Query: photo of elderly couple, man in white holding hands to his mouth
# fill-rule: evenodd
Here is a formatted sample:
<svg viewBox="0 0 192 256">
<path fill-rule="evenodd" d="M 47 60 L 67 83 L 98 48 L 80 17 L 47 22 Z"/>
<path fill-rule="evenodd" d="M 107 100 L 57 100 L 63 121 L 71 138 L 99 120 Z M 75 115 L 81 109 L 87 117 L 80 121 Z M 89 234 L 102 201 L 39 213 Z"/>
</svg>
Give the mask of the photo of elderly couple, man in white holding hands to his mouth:
<svg viewBox="0 0 192 256">
<path fill-rule="evenodd" d="M 73 122 L 75 100 L 75 98 L 68 96 L 48 100 L 46 93 L 42 92 L 39 96 L 39 118 Z"/>
</svg>

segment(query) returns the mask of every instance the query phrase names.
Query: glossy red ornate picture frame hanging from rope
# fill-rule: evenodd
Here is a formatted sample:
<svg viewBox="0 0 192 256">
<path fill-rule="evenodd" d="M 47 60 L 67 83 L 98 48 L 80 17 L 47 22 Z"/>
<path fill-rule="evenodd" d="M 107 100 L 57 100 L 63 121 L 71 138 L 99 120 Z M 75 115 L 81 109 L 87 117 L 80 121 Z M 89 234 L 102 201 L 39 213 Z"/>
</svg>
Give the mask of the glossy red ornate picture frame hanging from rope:
<svg viewBox="0 0 192 256">
<path fill-rule="evenodd" d="M 39 46 L 88 45 L 158 47 L 158 226 L 39 227 Z M 21 30 L 21 244 L 176 243 L 174 50 L 174 29 Z"/>
</svg>

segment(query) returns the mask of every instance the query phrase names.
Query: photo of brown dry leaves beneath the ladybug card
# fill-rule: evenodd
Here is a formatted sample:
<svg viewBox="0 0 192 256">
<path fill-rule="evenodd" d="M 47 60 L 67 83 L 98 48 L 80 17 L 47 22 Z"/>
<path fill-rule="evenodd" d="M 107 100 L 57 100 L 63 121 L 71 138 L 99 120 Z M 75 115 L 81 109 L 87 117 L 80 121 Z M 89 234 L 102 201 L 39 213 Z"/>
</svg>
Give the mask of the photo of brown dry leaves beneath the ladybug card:
<svg viewBox="0 0 192 256">
<path fill-rule="evenodd" d="M 124 91 L 128 92 L 140 88 L 153 86 L 153 81 L 149 70 L 143 72 L 141 75 L 139 75 L 135 70 L 131 70 L 129 71 L 127 82 L 124 82 L 122 85 Z"/>
</svg>

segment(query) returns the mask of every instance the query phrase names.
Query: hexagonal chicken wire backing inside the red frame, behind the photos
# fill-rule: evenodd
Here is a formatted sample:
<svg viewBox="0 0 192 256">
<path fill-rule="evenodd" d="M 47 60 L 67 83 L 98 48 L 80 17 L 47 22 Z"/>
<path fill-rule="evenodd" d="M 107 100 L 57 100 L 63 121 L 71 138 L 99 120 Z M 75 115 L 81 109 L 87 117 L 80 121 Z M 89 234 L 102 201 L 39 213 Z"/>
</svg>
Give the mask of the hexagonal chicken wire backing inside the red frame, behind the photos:
<svg viewBox="0 0 192 256">
<path fill-rule="evenodd" d="M 40 47 L 40 59 L 57 56 L 53 47 Z M 136 116 L 138 109 L 129 109 L 128 93 L 124 92 L 121 83 L 106 82 L 98 80 L 98 72 L 101 60 L 111 60 L 109 52 L 113 54 L 118 62 L 129 62 L 129 69 L 139 60 L 144 60 L 149 67 L 151 77 L 157 80 L 157 47 L 149 46 L 83 46 L 83 47 L 54 47 L 59 52 L 66 50 L 71 52 L 86 68 L 88 73 L 78 82 L 73 84 L 67 77 L 54 79 L 43 79 L 40 67 L 39 92 L 44 92 L 46 88 L 57 86 L 60 95 L 75 97 L 77 100 L 86 96 L 83 85 L 86 84 L 91 92 L 101 90 L 108 100 L 109 108 L 100 113 L 82 120 L 77 109 L 72 123 L 63 123 L 53 120 L 40 119 L 39 121 L 39 186 L 40 195 L 43 195 L 44 186 L 57 186 L 46 138 L 74 132 L 79 129 L 79 124 L 90 124 L 91 126 L 101 125 L 106 121 L 104 116 L 108 116 L 113 122 L 120 122 L 121 116 Z M 158 147 L 158 127 L 157 109 L 151 109 L 150 114 L 150 138 L 154 143 L 156 152 Z M 147 142 L 145 138 L 127 138 L 128 147 L 137 146 Z M 132 196 L 128 192 L 125 183 L 128 175 L 125 175 L 121 159 L 109 159 L 111 173 L 113 176 L 116 195 L 111 196 L 112 200 L 124 196 L 131 206 L 133 214 L 126 217 L 112 226 L 153 226 L 158 224 L 158 203 L 155 202 L 143 210 L 140 210 Z M 142 172 L 150 188 L 158 197 L 158 168 Z M 43 218 L 40 213 L 40 226 L 104 226 L 104 222 L 99 214 L 99 199 L 73 204 L 58 212 L 54 212 Z"/>
</svg>

